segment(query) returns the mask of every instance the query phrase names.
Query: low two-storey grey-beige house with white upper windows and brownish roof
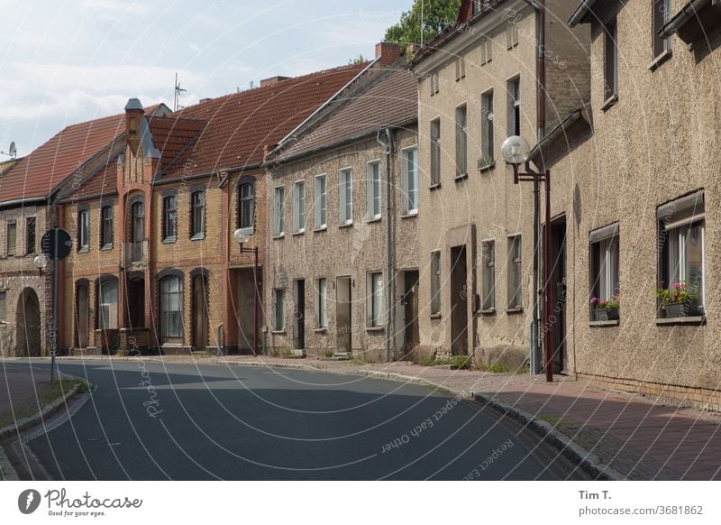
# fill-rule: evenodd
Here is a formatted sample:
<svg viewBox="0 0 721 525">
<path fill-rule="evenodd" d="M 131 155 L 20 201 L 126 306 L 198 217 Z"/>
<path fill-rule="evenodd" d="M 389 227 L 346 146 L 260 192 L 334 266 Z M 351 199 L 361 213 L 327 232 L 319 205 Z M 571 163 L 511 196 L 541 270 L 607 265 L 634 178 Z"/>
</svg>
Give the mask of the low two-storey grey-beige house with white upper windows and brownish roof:
<svg viewBox="0 0 721 525">
<path fill-rule="evenodd" d="M 415 78 L 397 46 L 376 54 L 266 159 L 271 352 L 375 361 L 418 344 Z"/>
</svg>

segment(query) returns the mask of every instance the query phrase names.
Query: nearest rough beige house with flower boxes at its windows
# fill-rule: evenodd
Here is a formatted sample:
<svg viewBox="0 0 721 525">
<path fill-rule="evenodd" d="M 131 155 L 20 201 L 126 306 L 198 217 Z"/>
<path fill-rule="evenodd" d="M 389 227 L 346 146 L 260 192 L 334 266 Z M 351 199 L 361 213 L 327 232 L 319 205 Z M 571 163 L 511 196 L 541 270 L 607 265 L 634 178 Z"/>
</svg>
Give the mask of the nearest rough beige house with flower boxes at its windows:
<svg viewBox="0 0 721 525">
<path fill-rule="evenodd" d="M 537 150 L 555 173 L 553 213 L 569 217 L 570 371 L 714 410 L 720 14 L 712 2 L 580 5 L 570 23 L 591 30 L 589 106 Z M 695 300 L 663 308 L 660 288 Z M 594 297 L 618 299 L 617 318 L 597 320 Z"/>
</svg>

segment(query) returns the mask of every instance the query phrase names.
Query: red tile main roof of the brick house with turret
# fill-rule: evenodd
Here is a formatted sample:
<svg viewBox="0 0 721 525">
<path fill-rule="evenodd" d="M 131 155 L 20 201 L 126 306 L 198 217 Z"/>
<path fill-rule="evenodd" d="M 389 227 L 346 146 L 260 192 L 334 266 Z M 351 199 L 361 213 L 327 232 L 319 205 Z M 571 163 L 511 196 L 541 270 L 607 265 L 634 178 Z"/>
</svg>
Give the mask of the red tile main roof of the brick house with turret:
<svg viewBox="0 0 721 525">
<path fill-rule="evenodd" d="M 194 175 L 260 164 L 266 145 L 277 144 L 367 65 L 327 69 L 180 110 L 177 115 L 208 124 L 163 179 L 182 177 L 187 161 Z"/>
</svg>

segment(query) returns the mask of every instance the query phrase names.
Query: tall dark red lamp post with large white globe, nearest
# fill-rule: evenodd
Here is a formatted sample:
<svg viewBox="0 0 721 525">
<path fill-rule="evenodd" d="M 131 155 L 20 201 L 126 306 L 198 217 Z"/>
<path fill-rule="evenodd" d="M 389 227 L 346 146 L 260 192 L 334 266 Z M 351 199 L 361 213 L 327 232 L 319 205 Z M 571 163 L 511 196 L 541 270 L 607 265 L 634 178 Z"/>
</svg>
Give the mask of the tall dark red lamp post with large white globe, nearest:
<svg viewBox="0 0 721 525">
<path fill-rule="evenodd" d="M 528 167 L 531 156 L 531 147 L 523 137 L 513 135 L 508 137 L 501 145 L 501 154 L 504 160 L 513 166 L 514 184 L 519 182 L 544 182 L 546 194 L 546 226 L 543 232 L 543 345 L 545 346 L 545 372 L 546 381 L 553 381 L 553 333 L 551 329 L 551 171 L 536 173 Z M 526 172 L 518 170 L 518 166 L 525 164 Z M 535 293 L 535 290 L 534 290 Z"/>
</svg>

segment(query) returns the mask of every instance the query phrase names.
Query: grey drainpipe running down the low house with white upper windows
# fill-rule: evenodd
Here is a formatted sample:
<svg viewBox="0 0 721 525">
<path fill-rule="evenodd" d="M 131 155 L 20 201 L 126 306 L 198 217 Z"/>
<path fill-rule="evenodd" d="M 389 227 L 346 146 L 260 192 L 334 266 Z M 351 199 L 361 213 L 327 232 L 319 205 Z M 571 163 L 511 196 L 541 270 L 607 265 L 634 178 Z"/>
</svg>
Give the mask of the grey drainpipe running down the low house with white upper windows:
<svg viewBox="0 0 721 525">
<path fill-rule="evenodd" d="M 386 298 L 388 304 L 388 322 L 386 323 L 386 361 L 390 362 L 391 348 L 395 346 L 394 339 L 396 334 L 396 305 L 395 305 L 395 288 L 396 278 L 394 272 L 394 252 L 393 252 L 393 184 L 391 177 L 391 157 L 394 152 L 393 142 L 395 140 L 393 130 L 389 127 L 385 129 L 386 142 L 382 138 L 383 130 L 378 131 L 376 141 L 386 153 Z"/>
</svg>

